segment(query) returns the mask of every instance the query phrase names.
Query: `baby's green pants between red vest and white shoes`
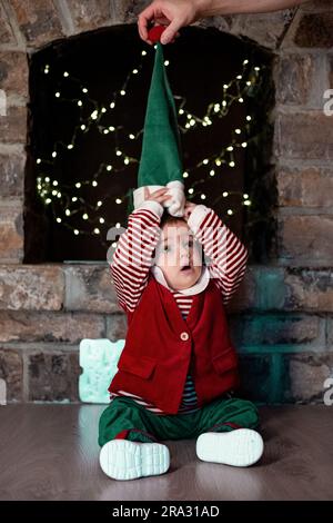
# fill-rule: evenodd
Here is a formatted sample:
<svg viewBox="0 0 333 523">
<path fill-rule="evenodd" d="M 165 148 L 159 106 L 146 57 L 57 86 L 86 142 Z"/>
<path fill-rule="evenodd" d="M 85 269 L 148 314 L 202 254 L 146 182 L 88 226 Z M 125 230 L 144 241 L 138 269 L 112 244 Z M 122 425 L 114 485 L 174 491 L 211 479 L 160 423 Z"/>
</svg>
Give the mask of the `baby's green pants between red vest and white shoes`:
<svg viewBox="0 0 333 523">
<path fill-rule="evenodd" d="M 259 427 L 256 406 L 235 397 L 221 397 L 192 414 L 157 415 L 128 397 L 115 397 L 99 421 L 99 445 L 114 438 L 135 442 L 191 440 L 204 432 Z"/>
</svg>

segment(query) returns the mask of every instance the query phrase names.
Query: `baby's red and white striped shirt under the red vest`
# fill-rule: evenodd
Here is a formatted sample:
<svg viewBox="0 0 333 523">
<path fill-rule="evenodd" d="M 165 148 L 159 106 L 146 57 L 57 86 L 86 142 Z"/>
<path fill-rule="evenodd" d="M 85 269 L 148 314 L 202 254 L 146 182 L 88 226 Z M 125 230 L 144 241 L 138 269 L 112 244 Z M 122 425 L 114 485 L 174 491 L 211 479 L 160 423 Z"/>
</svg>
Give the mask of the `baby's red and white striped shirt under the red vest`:
<svg viewBox="0 0 333 523">
<path fill-rule="evenodd" d="M 117 297 L 124 312 L 133 312 L 139 304 L 148 284 L 152 254 L 160 237 L 160 215 L 153 209 L 153 206 L 149 207 L 149 201 L 145 204 L 147 206 L 141 206 L 129 216 L 128 229 L 120 236 L 111 263 L 111 275 Z M 226 305 L 243 278 L 248 250 L 213 209 L 203 205 L 196 207 L 200 207 L 196 210 L 196 218 L 200 217 L 200 219 L 195 226 L 193 223 L 191 229 L 194 238 L 203 246 L 205 255 L 210 257 L 210 276 L 221 290 L 222 302 Z M 204 213 L 200 213 L 201 210 Z M 176 290 L 171 292 L 182 317 L 185 319 L 192 305 L 193 295 L 184 295 Z M 110 393 L 110 399 L 117 396 L 130 397 L 148 411 L 165 415 L 155 405 L 127 391 Z M 178 413 L 186 414 L 198 409 L 195 384 L 192 376 L 188 374 Z"/>
</svg>

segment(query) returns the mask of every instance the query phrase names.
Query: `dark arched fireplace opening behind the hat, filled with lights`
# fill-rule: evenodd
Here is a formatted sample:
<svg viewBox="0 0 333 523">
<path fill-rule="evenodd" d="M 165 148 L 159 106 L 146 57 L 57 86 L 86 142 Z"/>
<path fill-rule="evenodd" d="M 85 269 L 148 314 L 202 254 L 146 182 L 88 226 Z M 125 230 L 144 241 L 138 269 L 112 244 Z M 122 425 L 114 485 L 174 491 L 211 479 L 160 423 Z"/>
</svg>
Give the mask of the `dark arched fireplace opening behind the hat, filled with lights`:
<svg viewBox="0 0 333 523">
<path fill-rule="evenodd" d="M 264 263 L 275 237 L 273 57 L 213 28 L 185 28 L 163 49 L 188 199 L 214 208 Z M 153 59 L 134 24 L 30 57 L 24 263 L 105 262 L 108 230 L 125 227 L 137 187 Z"/>
</svg>

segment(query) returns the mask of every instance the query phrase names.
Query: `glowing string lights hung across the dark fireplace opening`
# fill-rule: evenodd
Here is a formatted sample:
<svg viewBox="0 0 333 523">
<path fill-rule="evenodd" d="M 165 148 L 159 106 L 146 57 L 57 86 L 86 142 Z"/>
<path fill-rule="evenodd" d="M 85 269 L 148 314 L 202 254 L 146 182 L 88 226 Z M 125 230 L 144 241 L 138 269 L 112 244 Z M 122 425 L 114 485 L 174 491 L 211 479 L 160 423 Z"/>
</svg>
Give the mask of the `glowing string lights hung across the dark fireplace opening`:
<svg viewBox="0 0 333 523">
<path fill-rule="evenodd" d="M 145 56 L 147 56 L 147 51 L 142 50 L 141 57 L 145 57 Z M 165 60 L 164 65 L 169 66 L 170 61 Z M 213 122 L 214 122 L 214 118 L 222 118 L 222 117 L 226 116 L 230 108 L 232 107 L 232 105 L 235 101 L 239 101 L 240 103 L 243 103 L 243 101 L 244 101 L 243 97 L 246 95 L 249 88 L 252 88 L 253 85 L 256 83 L 260 80 L 260 77 L 259 77 L 258 73 L 259 73 L 259 71 L 262 70 L 258 66 L 252 67 L 252 68 L 248 68 L 248 65 L 249 65 L 249 60 L 245 59 L 243 61 L 243 70 L 239 75 L 236 75 L 236 77 L 233 80 L 231 80 L 229 83 L 223 85 L 223 98 L 219 101 L 213 101 L 212 103 L 210 103 L 208 109 L 206 109 L 206 114 L 202 118 L 199 118 L 195 115 L 192 115 L 191 112 L 186 111 L 186 109 L 185 109 L 185 99 L 184 98 L 175 97 L 175 99 L 178 98 L 180 100 L 180 108 L 178 110 L 178 114 L 179 114 L 180 117 L 185 119 L 185 124 L 182 124 L 181 120 L 179 121 L 180 130 L 183 134 L 185 134 L 190 130 L 196 129 L 198 126 L 203 126 L 203 127 L 212 126 Z M 114 107 L 115 107 L 115 100 L 117 100 L 118 93 L 122 97 L 124 97 L 127 95 L 127 92 L 128 92 L 127 91 L 127 86 L 128 86 L 128 82 L 130 80 L 131 75 L 138 75 L 139 71 L 141 70 L 141 68 L 142 68 L 142 65 L 140 65 L 139 67 L 132 69 L 131 72 L 128 75 L 123 87 L 119 90 L 119 92 L 114 93 L 114 99 L 112 101 L 110 101 L 110 103 L 108 105 L 108 107 L 111 110 L 114 109 Z M 49 75 L 49 72 L 50 72 L 50 66 L 49 65 L 44 66 L 43 72 L 44 72 L 44 75 Z M 81 83 L 80 80 L 74 79 L 73 77 L 71 77 L 68 71 L 63 71 L 63 77 L 67 79 L 67 81 L 73 80 L 73 81 L 77 81 L 78 83 Z M 88 95 L 87 87 L 82 87 L 82 85 L 81 85 L 80 90 L 84 95 Z M 58 90 L 56 92 L 56 97 L 60 101 L 65 100 L 64 98 L 61 98 L 61 91 L 60 90 Z M 71 142 L 65 146 L 68 150 L 71 150 L 71 149 L 74 148 L 77 134 L 79 131 L 87 132 L 91 128 L 92 125 L 95 125 L 97 129 L 103 135 L 108 135 L 109 132 L 114 132 L 115 135 L 118 135 L 120 132 L 120 129 L 121 129 L 121 126 L 119 126 L 119 127 L 109 126 L 108 128 L 104 128 L 103 126 L 100 126 L 99 120 L 100 120 L 101 116 L 104 115 L 108 111 L 108 109 L 105 107 L 100 107 L 100 105 L 95 100 L 92 100 L 89 97 L 87 97 L 84 99 L 87 101 L 90 101 L 94 106 L 94 110 L 90 114 L 90 117 L 88 117 L 88 119 L 85 119 L 84 124 L 82 122 L 83 118 L 80 118 L 80 124 L 74 129 L 74 134 L 73 134 Z M 84 105 L 81 99 L 71 100 L 71 101 L 75 102 L 75 105 L 79 108 L 82 108 L 83 105 Z M 248 126 L 249 126 L 249 122 L 252 121 L 251 116 L 246 115 L 245 120 L 246 120 L 245 128 L 246 128 L 246 131 L 249 131 Z M 240 129 L 240 128 L 235 129 L 234 134 L 236 136 L 241 135 L 242 129 Z M 138 132 L 138 134 L 127 132 L 127 136 L 130 140 L 135 140 L 139 135 L 140 135 L 140 132 Z M 117 138 L 118 138 L 118 136 L 117 136 Z M 234 150 L 236 148 L 240 148 L 240 147 L 241 148 L 246 148 L 248 142 L 250 140 L 251 140 L 251 138 L 249 138 L 248 141 L 244 141 L 244 139 L 243 139 L 239 144 L 236 138 L 234 138 L 232 140 L 232 144 L 224 147 L 221 151 L 219 151 L 219 154 L 214 155 L 211 158 L 204 158 L 201 161 L 198 161 L 198 164 L 195 166 L 193 166 L 192 168 L 186 169 L 186 171 L 183 172 L 183 178 L 189 178 L 191 172 L 195 172 L 196 169 L 200 168 L 200 166 L 202 166 L 202 165 L 208 166 L 211 162 L 214 162 L 214 165 L 216 167 L 221 167 L 222 165 L 225 165 L 225 166 L 229 166 L 231 168 L 234 168 L 235 167 L 235 161 L 234 161 L 234 158 L 233 158 Z M 60 144 L 61 142 L 54 144 L 54 150 L 51 155 L 53 159 L 57 158 L 58 151 L 56 149 L 58 149 L 58 145 L 60 145 Z M 230 154 L 232 156 L 229 157 L 229 159 L 228 159 L 228 155 L 230 156 Z M 131 162 L 139 164 L 139 160 L 137 158 L 131 158 L 129 155 L 124 154 L 120 149 L 115 149 L 115 155 L 118 157 L 121 157 L 121 156 L 124 157 L 123 158 L 123 165 L 125 165 L 125 166 L 128 166 Z M 47 158 L 44 158 L 44 159 L 37 158 L 36 162 L 37 162 L 37 165 L 41 165 L 41 166 L 46 165 L 46 164 L 49 164 L 49 165 L 53 166 L 53 164 L 54 164 L 54 161 L 50 161 Z M 103 167 L 108 172 L 110 172 L 111 170 L 114 174 L 123 171 L 123 168 L 115 168 L 114 166 L 112 166 L 110 164 L 109 165 L 103 165 L 101 167 Z M 100 168 L 99 171 L 93 175 L 93 178 L 98 177 L 100 174 L 102 174 L 102 171 L 103 171 L 103 169 Z M 196 180 L 195 182 L 192 184 L 192 186 L 194 187 L 199 182 L 204 184 L 206 180 L 209 180 L 210 177 L 215 176 L 215 174 L 216 172 L 215 172 L 214 169 L 209 169 L 208 172 L 206 172 L 206 177 L 203 177 L 201 180 Z M 83 185 L 87 185 L 87 184 L 89 184 L 89 180 L 81 180 L 79 182 L 75 182 L 73 185 L 73 187 L 75 187 L 77 189 L 80 189 Z M 98 186 L 98 181 L 95 179 L 90 184 L 93 187 Z M 53 182 L 53 185 L 57 186 L 58 182 L 57 184 Z M 188 190 L 189 195 L 191 195 L 191 196 L 192 195 L 195 196 L 193 187 L 190 187 L 189 190 Z M 68 188 L 70 188 L 70 187 L 68 187 Z M 53 203 L 52 197 L 54 197 L 57 199 L 67 197 L 65 190 L 63 190 L 63 188 L 61 188 L 61 191 L 60 190 L 54 190 L 54 189 L 52 190 L 50 188 L 50 177 L 49 176 L 46 176 L 43 179 L 41 177 L 38 177 L 37 189 L 38 189 L 39 195 L 41 196 L 41 198 L 43 199 L 43 201 L 47 205 L 50 205 L 51 203 Z M 232 193 L 224 191 L 222 194 L 222 196 L 226 197 L 226 196 L 230 196 L 231 194 Z M 233 194 L 240 194 L 240 193 L 234 191 Z M 117 198 L 115 204 L 121 205 L 127 200 L 127 198 L 128 198 L 128 196 L 124 196 L 123 198 Z M 204 193 L 201 193 L 200 198 L 205 199 L 206 195 Z M 84 206 L 88 206 L 88 204 L 84 201 L 84 199 L 81 196 L 80 197 L 73 196 L 71 198 L 67 198 L 67 200 L 68 200 L 68 203 L 70 203 L 70 200 L 71 200 L 73 204 L 75 204 L 80 200 L 80 203 L 81 203 L 80 208 L 82 210 L 83 210 Z M 89 205 L 89 207 L 91 207 L 91 208 L 95 207 L 98 209 L 101 205 L 102 205 L 102 201 L 98 201 L 95 206 Z M 246 198 L 245 198 L 245 195 L 243 195 L 243 205 L 245 205 L 245 206 L 251 205 L 251 200 L 249 199 L 248 195 L 246 195 Z M 71 214 L 75 214 L 77 211 L 78 211 L 78 209 L 73 209 L 72 213 L 71 213 L 70 208 L 65 208 L 64 214 L 65 214 L 65 216 L 71 216 Z M 229 209 L 228 214 L 232 215 L 233 210 Z M 83 218 L 84 220 L 90 220 L 89 215 L 87 213 L 83 213 L 82 217 L 83 216 L 84 216 L 84 218 Z M 104 224 L 104 218 L 97 217 L 97 219 L 99 220 L 100 224 Z M 73 234 L 75 236 L 78 236 L 79 234 L 87 234 L 85 231 L 79 230 L 78 228 L 72 228 L 69 224 L 64 224 L 63 220 L 61 219 L 61 217 L 59 217 L 59 216 L 57 217 L 57 223 L 62 224 L 62 225 L 67 225 L 73 231 Z M 120 227 L 120 224 L 118 224 L 118 226 Z M 93 233 L 94 234 L 100 234 L 99 228 L 95 227 L 93 229 Z"/>
</svg>

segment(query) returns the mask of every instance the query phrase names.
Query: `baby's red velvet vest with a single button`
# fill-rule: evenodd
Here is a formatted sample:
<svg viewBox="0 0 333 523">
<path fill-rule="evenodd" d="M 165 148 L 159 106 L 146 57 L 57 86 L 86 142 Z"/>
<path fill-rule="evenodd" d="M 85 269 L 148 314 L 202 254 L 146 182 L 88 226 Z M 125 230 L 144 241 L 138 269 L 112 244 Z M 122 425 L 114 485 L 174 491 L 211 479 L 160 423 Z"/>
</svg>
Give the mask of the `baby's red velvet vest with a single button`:
<svg viewBox="0 0 333 523">
<path fill-rule="evenodd" d="M 176 414 L 189 365 L 199 406 L 239 387 L 238 355 L 212 279 L 183 319 L 172 293 L 150 274 L 128 327 L 109 392 L 127 391 Z"/>
</svg>

